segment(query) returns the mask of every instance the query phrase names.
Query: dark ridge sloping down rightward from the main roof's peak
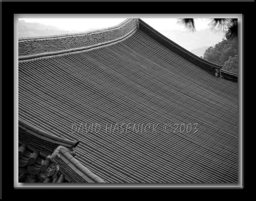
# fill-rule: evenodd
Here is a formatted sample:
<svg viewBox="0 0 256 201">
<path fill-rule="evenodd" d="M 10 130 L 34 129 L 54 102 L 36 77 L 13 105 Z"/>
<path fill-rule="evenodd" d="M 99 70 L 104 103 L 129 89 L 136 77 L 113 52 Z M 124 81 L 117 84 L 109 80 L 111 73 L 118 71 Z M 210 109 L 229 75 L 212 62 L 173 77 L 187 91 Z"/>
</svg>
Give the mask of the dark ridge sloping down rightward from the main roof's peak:
<svg viewBox="0 0 256 201">
<path fill-rule="evenodd" d="M 152 34 L 158 36 L 159 38 L 163 39 L 165 42 L 171 44 L 173 47 L 177 48 L 178 50 L 181 50 L 182 52 L 186 53 L 187 55 L 189 55 L 190 57 L 206 64 L 209 66 L 212 66 L 214 68 L 221 68 L 221 65 L 218 64 L 214 64 L 210 61 L 207 61 L 203 58 L 200 58 L 198 56 L 196 56 L 195 54 L 193 54 L 192 52 L 186 50 L 185 48 L 181 47 L 180 45 L 178 45 L 177 43 L 174 43 L 172 40 L 170 40 L 169 38 L 167 38 L 166 36 L 164 36 L 163 34 L 159 33 L 156 29 L 154 29 L 153 27 L 149 26 L 146 22 L 144 22 L 143 20 L 139 19 L 139 29 L 140 29 L 140 25 L 143 25 L 144 27 L 146 27 Z"/>
</svg>

